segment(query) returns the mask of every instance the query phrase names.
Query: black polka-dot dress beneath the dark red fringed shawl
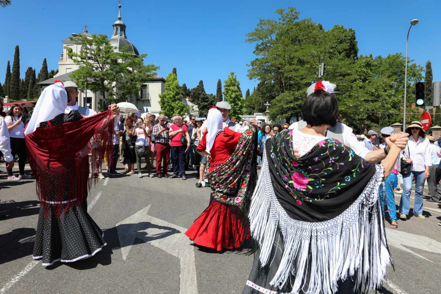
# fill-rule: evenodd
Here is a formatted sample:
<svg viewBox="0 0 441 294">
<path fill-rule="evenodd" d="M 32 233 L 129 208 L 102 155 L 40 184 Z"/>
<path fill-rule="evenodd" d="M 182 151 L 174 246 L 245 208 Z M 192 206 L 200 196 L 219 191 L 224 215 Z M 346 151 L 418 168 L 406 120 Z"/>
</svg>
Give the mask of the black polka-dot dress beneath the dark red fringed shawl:
<svg viewBox="0 0 441 294">
<path fill-rule="evenodd" d="M 69 115 L 57 115 L 50 123 L 57 125 L 81 118 L 82 116 L 73 110 Z M 46 127 L 48 123 L 41 123 L 40 126 Z M 87 189 L 85 191 L 86 195 L 83 204 L 75 205 L 75 202 L 72 201 L 69 204 L 69 208 L 64 212 L 64 208 L 68 205 L 68 185 L 66 180 L 66 189 L 59 220 L 57 219 L 53 202 L 49 201 L 52 213 L 46 219 L 43 207 L 40 207 L 33 258 L 41 258 L 42 265 L 48 266 L 56 261 L 73 262 L 88 258 L 101 251 L 106 245 L 103 232 L 93 221 L 92 217 L 90 217 L 89 213 L 87 213 Z M 71 209 L 72 205 L 75 206 Z"/>
</svg>

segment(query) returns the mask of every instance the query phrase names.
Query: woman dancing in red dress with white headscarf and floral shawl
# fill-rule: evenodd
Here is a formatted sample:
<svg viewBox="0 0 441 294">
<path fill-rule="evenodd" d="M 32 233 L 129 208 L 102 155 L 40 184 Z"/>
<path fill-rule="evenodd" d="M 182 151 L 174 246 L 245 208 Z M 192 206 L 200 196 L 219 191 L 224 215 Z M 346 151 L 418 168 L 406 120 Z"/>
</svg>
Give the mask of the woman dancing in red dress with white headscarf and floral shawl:
<svg viewBox="0 0 441 294">
<path fill-rule="evenodd" d="M 238 248 L 249 238 L 247 208 L 257 174 L 255 134 L 254 127 L 243 134 L 223 128 L 221 112 L 209 110 L 197 151 L 211 156 L 207 177 L 212 191 L 209 206 L 185 232 L 195 244 L 220 251 Z"/>
</svg>

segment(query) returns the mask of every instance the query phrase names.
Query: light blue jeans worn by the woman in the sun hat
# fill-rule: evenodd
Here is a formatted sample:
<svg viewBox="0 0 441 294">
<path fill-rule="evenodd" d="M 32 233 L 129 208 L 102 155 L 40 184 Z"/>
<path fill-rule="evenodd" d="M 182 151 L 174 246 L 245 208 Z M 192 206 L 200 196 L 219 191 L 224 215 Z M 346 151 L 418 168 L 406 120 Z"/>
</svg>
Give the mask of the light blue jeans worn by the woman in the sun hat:
<svg viewBox="0 0 441 294">
<path fill-rule="evenodd" d="M 409 215 L 413 177 L 415 177 L 414 214 L 422 214 L 422 188 L 426 181 L 424 171 L 411 171 L 408 175 L 403 175 L 404 191 L 400 199 L 400 214 Z"/>
</svg>

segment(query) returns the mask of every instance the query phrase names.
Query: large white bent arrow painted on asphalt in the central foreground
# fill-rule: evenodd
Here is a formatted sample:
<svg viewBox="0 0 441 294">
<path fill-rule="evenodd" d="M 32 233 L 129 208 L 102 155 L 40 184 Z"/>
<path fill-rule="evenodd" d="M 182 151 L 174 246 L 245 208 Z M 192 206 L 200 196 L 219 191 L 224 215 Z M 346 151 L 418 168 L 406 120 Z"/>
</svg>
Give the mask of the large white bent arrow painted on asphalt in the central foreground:
<svg viewBox="0 0 441 294">
<path fill-rule="evenodd" d="M 192 242 L 184 234 L 187 229 L 147 215 L 149 208 L 150 205 L 116 224 L 123 259 L 126 260 L 135 238 L 142 239 L 179 257 L 181 268 L 179 294 L 198 294 L 194 246 L 191 246 Z M 142 223 L 151 223 L 151 225 L 145 228 L 141 227 Z"/>
</svg>

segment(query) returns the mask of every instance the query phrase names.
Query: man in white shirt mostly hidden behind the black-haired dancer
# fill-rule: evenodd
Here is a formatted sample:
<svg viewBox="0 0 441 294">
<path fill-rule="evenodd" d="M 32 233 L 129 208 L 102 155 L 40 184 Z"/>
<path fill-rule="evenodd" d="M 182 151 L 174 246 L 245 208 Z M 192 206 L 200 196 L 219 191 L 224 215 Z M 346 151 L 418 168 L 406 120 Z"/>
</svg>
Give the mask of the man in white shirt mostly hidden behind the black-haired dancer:
<svg viewBox="0 0 441 294">
<path fill-rule="evenodd" d="M 316 84 L 317 83 L 314 83 L 308 87 L 308 89 L 306 90 L 307 96 L 314 93 Z M 337 87 L 335 84 L 332 84 L 328 81 L 322 81 L 322 84 L 325 86 L 325 91 L 327 91 L 328 93 L 338 93 L 334 91 L 334 89 L 336 89 Z M 306 122 L 303 120 L 292 123 L 291 126 L 289 126 L 290 129 L 303 129 L 304 127 L 306 127 Z M 366 148 L 363 142 L 359 142 L 357 140 L 357 137 L 355 137 L 352 129 L 341 122 L 337 122 L 335 126 L 329 127 L 326 132 L 326 137 L 333 138 L 342 142 L 344 145 L 354 150 L 354 152 L 358 156 L 363 157 L 372 164 L 375 164 L 385 159 L 387 153 L 389 152 L 389 147 L 386 147 L 385 149 L 370 151 Z M 404 141 L 401 141 L 402 138 L 404 138 Z M 401 138 L 396 139 L 395 144 L 398 147 L 400 147 L 400 145 L 407 145 L 405 138 L 406 134 L 402 134 Z"/>
</svg>

